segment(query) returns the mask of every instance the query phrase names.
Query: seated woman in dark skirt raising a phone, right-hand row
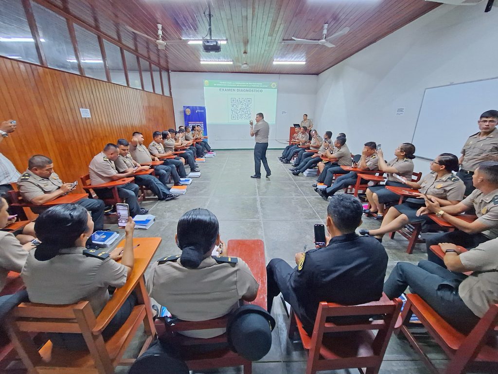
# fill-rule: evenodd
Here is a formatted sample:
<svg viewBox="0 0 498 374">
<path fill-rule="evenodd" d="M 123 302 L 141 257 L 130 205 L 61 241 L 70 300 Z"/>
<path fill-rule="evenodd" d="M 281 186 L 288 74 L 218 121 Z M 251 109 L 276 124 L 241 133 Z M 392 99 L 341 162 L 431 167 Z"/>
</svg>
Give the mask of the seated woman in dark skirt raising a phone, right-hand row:
<svg viewBox="0 0 498 374">
<path fill-rule="evenodd" d="M 396 201 L 399 195 L 389 191 L 385 186 L 397 186 L 409 188 L 406 181 L 411 180 L 413 173 L 413 160 L 415 156 L 415 146 L 411 143 L 403 143 L 394 151 L 394 159 L 388 163 L 384 160 L 384 154 L 377 149 L 378 169 L 387 173 L 387 182 L 382 186 L 373 186 L 367 188 L 367 198 L 370 202 L 370 209 L 364 210 L 364 213 L 377 213 L 376 219 L 384 217 L 384 204 L 386 202 Z M 401 177 L 403 182 L 393 176 L 396 174 Z"/>
</svg>

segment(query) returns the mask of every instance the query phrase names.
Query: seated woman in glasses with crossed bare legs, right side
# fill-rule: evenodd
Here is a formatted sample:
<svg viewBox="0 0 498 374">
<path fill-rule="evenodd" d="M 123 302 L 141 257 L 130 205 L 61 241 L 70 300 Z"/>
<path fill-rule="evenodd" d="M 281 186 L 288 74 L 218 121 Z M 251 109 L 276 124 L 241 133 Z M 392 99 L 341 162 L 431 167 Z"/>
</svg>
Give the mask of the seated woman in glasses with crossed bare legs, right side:
<svg viewBox="0 0 498 374">
<path fill-rule="evenodd" d="M 393 232 L 407 223 L 424 222 L 430 218 L 418 215 L 417 211 L 425 207 L 423 197 L 437 200 L 441 206 L 455 205 L 464 197 L 465 185 L 452 172 L 458 172 L 458 158 L 451 153 L 442 153 L 431 163 L 431 173 L 418 183 L 407 182 L 408 187 L 418 189 L 422 198 L 408 198 L 402 204 L 394 205 L 387 211 L 382 224 L 376 230 L 360 230 L 361 235 L 373 235 L 382 240 L 382 236 Z"/>
</svg>

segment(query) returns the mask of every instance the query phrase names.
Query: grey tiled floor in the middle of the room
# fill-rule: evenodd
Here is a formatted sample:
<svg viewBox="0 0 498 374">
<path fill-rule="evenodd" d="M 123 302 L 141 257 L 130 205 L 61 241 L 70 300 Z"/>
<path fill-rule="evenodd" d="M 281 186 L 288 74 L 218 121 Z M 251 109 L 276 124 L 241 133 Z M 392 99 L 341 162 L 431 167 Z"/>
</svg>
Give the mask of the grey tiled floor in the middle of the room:
<svg viewBox="0 0 498 374">
<path fill-rule="evenodd" d="M 313 225 L 324 223 L 327 202 L 311 185 L 314 178 L 293 176 L 290 165 L 281 164 L 277 156 L 281 151 L 269 150 L 267 158 L 271 177 L 254 180 L 252 151 L 219 151 L 215 158 L 200 164 L 201 178 L 195 179 L 187 193 L 173 201 L 146 201 L 141 205 L 156 216 L 156 223 L 148 230 L 135 230 L 136 236 L 161 236 L 162 243 L 153 259 L 179 253 L 174 242 L 176 223 L 186 211 L 203 207 L 213 211 L 220 221 L 223 240 L 258 238 L 265 243 L 266 261 L 275 257 L 293 264 L 294 253 L 303 248 L 313 248 Z M 376 228 L 379 222 L 365 218 L 362 227 Z M 113 226 L 110 226 L 112 228 Z M 388 272 L 397 261 L 413 261 L 426 258 L 425 247 L 418 245 L 414 254 L 405 253 L 407 241 L 384 239 L 389 255 Z M 295 265 L 295 264 L 293 264 Z M 277 328 L 273 331 L 270 352 L 254 363 L 253 373 L 293 374 L 304 373 L 306 353 L 300 344 L 287 339 L 286 315 L 281 303 L 275 302 L 273 315 Z M 138 339 L 139 340 L 139 339 Z M 446 356 L 428 341 L 427 351 L 437 365 L 445 366 Z M 119 367 L 118 373 L 127 373 Z M 356 370 L 338 371 L 354 373 Z M 428 373 L 405 339 L 392 337 L 385 354 L 381 373 Z M 160 370 L 158 371 L 160 373 Z M 199 372 L 196 372 L 199 373 Z M 242 373 L 242 368 L 229 368 L 210 373 Z M 323 372 L 333 373 L 333 372 Z M 334 372 L 335 373 L 335 372 Z"/>
</svg>

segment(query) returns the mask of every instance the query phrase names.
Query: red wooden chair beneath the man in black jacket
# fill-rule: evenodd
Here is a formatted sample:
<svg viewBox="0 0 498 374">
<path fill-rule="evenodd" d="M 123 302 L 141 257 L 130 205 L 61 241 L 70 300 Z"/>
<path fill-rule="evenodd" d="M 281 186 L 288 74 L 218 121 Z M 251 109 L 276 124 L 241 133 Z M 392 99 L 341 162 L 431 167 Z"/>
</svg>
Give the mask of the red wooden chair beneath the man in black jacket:
<svg viewBox="0 0 498 374">
<path fill-rule="evenodd" d="M 311 337 L 292 312 L 291 319 L 295 319 L 303 347 L 308 351 L 306 374 L 349 368 L 358 368 L 362 374 L 378 373 L 400 310 L 401 300 L 389 300 L 385 294 L 379 301 L 362 305 L 321 302 Z M 383 315 L 384 318 L 369 321 L 368 316 L 372 315 Z M 347 325 L 326 322 L 328 317 L 343 316 L 366 316 L 366 321 Z M 327 334 L 339 332 L 348 334 L 340 337 Z M 362 368 L 367 370 L 364 372 Z"/>
</svg>

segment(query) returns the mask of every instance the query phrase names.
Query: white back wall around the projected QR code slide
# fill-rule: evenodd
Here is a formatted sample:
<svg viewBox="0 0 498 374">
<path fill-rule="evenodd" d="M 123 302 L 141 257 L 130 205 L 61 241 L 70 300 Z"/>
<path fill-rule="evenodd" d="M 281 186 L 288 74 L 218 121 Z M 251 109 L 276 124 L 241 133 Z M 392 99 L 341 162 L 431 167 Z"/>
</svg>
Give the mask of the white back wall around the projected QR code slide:
<svg viewBox="0 0 498 374">
<path fill-rule="evenodd" d="M 170 72 L 170 78 L 176 126 L 184 124 L 184 105 L 204 106 L 205 79 L 278 82 L 276 125 L 270 127 L 270 148 L 283 148 L 288 144 L 289 127 L 301 122 L 304 113 L 311 119 L 315 117 L 317 75 Z M 282 114 L 282 111 L 287 114 Z M 249 136 L 249 124 L 208 123 L 208 136 L 209 144 L 214 149 L 254 148 L 254 138 Z"/>
</svg>

